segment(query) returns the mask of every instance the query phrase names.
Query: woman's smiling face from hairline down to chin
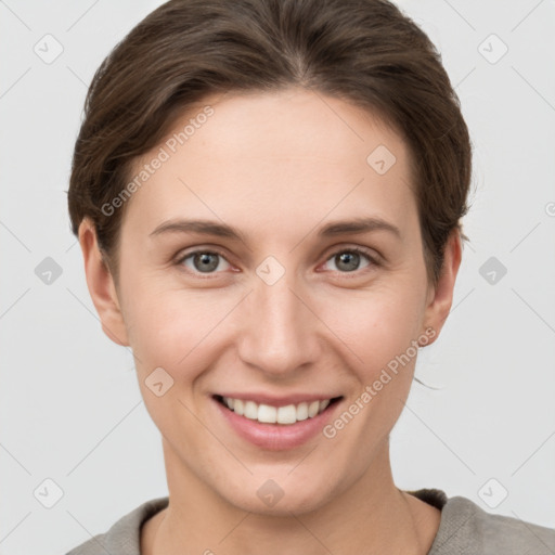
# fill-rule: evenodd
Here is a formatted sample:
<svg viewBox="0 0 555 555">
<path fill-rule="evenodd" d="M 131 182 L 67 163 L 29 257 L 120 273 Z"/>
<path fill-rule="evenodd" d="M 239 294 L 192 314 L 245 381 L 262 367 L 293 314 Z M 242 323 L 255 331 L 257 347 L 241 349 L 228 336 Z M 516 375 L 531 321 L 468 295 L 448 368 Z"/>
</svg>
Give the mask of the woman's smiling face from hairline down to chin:
<svg viewBox="0 0 555 555">
<path fill-rule="evenodd" d="M 88 280 L 132 347 L 170 493 L 179 479 L 285 514 L 379 476 L 453 286 L 428 285 L 402 139 L 338 99 L 227 94 L 144 164 L 111 309 Z"/>
</svg>

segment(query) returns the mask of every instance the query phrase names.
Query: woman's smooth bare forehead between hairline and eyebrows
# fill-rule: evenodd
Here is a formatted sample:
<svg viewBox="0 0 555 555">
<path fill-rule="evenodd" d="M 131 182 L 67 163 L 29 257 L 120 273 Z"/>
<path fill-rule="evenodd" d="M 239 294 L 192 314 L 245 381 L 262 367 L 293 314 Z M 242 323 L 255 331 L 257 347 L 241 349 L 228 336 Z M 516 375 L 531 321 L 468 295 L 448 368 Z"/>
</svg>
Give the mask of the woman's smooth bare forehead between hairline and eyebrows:
<svg viewBox="0 0 555 555">
<path fill-rule="evenodd" d="M 137 160 L 140 172 L 126 216 L 140 233 L 179 215 L 283 230 L 372 214 L 401 231 L 415 216 L 404 141 L 369 111 L 302 89 L 207 96 Z"/>
</svg>

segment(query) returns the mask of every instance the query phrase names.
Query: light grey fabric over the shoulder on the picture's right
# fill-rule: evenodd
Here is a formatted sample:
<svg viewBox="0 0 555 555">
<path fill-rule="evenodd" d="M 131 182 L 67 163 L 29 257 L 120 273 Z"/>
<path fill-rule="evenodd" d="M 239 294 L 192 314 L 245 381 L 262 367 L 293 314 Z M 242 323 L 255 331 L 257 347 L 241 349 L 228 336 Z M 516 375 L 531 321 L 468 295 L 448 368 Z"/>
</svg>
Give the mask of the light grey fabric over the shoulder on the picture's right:
<svg viewBox="0 0 555 555">
<path fill-rule="evenodd" d="M 493 515 L 467 498 L 449 498 L 428 555 L 553 555 L 555 529 Z"/>
</svg>

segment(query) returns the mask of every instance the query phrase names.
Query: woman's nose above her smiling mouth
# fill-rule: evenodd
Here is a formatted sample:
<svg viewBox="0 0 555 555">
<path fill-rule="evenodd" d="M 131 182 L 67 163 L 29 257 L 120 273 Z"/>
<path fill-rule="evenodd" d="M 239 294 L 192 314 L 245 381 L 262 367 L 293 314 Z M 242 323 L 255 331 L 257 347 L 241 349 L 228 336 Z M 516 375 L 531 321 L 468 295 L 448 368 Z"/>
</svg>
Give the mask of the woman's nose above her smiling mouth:
<svg viewBox="0 0 555 555">
<path fill-rule="evenodd" d="M 237 314 L 238 356 L 269 376 L 291 377 L 318 360 L 323 324 L 310 309 L 307 289 L 295 284 L 293 272 L 272 285 L 257 275 L 253 282 L 254 291 Z"/>
</svg>

